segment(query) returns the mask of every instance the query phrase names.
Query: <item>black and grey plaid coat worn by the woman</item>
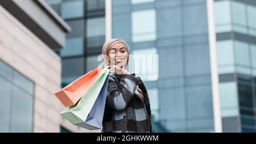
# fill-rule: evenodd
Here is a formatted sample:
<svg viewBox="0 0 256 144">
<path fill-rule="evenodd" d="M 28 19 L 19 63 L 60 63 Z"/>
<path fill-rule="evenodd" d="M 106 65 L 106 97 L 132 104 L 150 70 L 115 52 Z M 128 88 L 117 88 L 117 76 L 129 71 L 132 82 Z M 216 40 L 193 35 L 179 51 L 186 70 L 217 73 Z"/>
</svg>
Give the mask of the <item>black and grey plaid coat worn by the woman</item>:
<svg viewBox="0 0 256 144">
<path fill-rule="evenodd" d="M 144 102 L 137 95 L 141 88 Z M 108 92 L 102 122 L 104 133 L 152 132 L 150 101 L 141 78 L 109 74 Z"/>
</svg>

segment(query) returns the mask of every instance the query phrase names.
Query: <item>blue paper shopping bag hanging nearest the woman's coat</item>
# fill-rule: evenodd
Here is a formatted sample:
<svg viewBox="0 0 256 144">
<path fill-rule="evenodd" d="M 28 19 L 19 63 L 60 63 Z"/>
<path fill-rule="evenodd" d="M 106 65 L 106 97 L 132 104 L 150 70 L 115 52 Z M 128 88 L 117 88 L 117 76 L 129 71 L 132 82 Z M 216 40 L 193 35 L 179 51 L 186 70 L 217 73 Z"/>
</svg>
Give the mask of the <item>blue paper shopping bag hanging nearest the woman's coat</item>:
<svg viewBox="0 0 256 144">
<path fill-rule="evenodd" d="M 108 91 L 109 76 L 106 78 L 103 87 L 101 88 L 100 94 L 98 95 L 92 109 L 90 110 L 89 116 L 85 122 L 76 124 L 82 128 L 89 130 L 102 129 L 102 120 L 104 116 L 106 95 Z"/>
</svg>

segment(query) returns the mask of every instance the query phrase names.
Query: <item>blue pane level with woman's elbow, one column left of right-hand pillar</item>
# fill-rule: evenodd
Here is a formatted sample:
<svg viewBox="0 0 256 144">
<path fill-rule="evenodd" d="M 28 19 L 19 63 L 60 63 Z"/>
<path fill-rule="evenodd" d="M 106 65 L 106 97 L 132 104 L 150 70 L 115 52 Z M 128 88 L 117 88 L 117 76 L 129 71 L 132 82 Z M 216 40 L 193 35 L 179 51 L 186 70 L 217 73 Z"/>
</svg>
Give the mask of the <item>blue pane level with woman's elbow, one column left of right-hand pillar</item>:
<svg viewBox="0 0 256 144">
<path fill-rule="evenodd" d="M 159 91 L 160 118 L 163 120 L 184 120 L 186 105 L 184 88 Z"/>
</svg>

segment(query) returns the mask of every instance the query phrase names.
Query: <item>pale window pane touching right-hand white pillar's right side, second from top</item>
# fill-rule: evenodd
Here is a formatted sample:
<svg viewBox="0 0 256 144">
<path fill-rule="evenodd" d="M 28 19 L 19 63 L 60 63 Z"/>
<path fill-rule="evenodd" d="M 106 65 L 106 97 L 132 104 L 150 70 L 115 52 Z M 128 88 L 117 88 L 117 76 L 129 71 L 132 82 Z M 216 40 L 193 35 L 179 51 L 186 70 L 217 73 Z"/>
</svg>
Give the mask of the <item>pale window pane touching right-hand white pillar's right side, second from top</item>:
<svg viewBox="0 0 256 144">
<path fill-rule="evenodd" d="M 234 50 L 232 41 L 217 41 L 216 47 L 218 65 L 228 65 L 234 63 Z"/>
</svg>

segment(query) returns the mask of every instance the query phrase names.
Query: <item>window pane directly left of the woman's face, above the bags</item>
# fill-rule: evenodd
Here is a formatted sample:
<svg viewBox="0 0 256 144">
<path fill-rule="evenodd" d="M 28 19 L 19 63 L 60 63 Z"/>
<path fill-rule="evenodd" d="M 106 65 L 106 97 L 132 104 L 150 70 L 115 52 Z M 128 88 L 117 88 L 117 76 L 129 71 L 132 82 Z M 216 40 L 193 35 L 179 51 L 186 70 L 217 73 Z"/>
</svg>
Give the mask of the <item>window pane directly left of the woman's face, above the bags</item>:
<svg viewBox="0 0 256 144">
<path fill-rule="evenodd" d="M 99 61 L 98 61 L 99 60 Z M 86 73 L 88 73 L 90 70 L 96 69 L 100 64 L 104 65 L 104 60 L 102 59 L 102 56 L 88 56 L 86 57 Z"/>
</svg>

